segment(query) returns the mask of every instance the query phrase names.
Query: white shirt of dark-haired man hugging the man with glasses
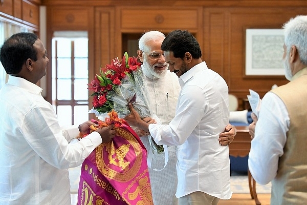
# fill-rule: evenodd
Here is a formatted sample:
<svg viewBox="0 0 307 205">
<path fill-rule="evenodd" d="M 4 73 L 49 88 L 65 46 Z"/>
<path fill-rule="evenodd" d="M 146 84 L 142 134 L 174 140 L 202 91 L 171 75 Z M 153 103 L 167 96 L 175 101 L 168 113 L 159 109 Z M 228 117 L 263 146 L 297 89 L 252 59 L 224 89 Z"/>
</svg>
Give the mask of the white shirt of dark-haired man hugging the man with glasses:
<svg viewBox="0 0 307 205">
<path fill-rule="evenodd" d="M 157 144 L 179 146 L 176 196 L 201 191 L 229 199 L 229 151 L 218 143 L 229 122 L 227 84 L 205 62 L 184 73 L 179 83 L 176 116 L 169 125 L 149 125 Z"/>
</svg>

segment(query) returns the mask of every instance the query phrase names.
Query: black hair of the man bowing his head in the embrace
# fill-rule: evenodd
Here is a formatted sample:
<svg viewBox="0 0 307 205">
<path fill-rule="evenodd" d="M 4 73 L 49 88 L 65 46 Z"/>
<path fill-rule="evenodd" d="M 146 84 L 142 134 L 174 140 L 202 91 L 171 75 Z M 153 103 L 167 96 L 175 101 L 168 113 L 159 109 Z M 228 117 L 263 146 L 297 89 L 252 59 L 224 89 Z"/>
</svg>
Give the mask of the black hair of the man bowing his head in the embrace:
<svg viewBox="0 0 307 205">
<path fill-rule="evenodd" d="M 161 50 L 172 51 L 174 57 L 184 58 L 186 52 L 191 53 L 195 59 L 202 57 L 200 44 L 187 30 L 171 31 L 163 40 Z"/>
</svg>

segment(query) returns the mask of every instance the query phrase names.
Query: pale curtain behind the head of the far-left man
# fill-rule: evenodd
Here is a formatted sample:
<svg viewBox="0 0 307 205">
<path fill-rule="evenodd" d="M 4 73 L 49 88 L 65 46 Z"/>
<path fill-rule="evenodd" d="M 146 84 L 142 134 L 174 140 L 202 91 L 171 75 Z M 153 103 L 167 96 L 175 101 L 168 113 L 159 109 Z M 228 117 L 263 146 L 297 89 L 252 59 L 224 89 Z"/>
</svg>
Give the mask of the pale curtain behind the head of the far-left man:
<svg viewBox="0 0 307 205">
<path fill-rule="evenodd" d="M 3 45 L 4 40 L 14 33 L 19 32 L 33 32 L 27 28 L 16 26 L 7 22 L 0 21 L 0 45 Z M 2 64 L 0 64 L 0 89 L 8 81 L 8 74 L 6 74 Z"/>
</svg>

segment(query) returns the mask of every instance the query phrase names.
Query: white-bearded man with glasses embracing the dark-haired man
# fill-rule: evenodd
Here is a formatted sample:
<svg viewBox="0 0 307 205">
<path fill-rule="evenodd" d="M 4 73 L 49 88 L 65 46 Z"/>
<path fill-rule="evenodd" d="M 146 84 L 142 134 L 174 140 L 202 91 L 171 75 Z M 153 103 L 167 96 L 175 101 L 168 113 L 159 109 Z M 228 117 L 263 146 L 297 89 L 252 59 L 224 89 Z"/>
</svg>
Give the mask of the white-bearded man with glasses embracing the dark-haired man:
<svg viewBox="0 0 307 205">
<path fill-rule="evenodd" d="M 161 44 L 165 35 L 159 31 L 146 32 L 139 39 L 138 57 L 142 62 L 142 70 L 148 88 L 150 109 L 156 114 L 163 125 L 168 125 L 175 116 L 177 100 L 181 87 L 178 76 L 168 70 Z M 229 145 L 235 135 L 235 128 L 230 124 L 226 132 L 220 135 L 220 144 Z M 227 132 L 228 131 L 228 132 Z M 141 137 L 148 152 L 150 151 L 149 140 Z M 162 171 L 149 169 L 153 203 L 155 205 L 175 205 L 177 189 L 176 174 L 176 146 L 168 146 L 168 163 Z M 154 152 L 152 168 L 162 169 L 165 163 L 165 155 Z"/>
</svg>

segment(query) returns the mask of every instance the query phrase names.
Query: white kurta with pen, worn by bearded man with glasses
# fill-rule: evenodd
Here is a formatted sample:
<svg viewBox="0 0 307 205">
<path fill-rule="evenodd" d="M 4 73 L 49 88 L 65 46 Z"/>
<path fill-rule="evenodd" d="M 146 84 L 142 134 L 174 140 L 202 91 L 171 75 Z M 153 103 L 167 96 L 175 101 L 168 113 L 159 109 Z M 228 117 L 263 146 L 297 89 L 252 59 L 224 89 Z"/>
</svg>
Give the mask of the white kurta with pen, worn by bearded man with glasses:
<svg viewBox="0 0 307 205">
<path fill-rule="evenodd" d="M 143 66 L 142 70 L 147 84 L 151 112 L 159 116 L 162 124 L 169 124 L 175 116 L 178 95 L 181 90 L 178 76 L 167 70 L 164 77 L 158 78 L 146 72 L 147 70 Z M 149 152 L 148 137 L 141 137 L 141 140 Z M 176 150 L 176 146 L 168 147 L 168 162 L 162 171 L 157 172 L 149 169 L 151 193 L 153 204 L 155 205 L 177 205 L 175 196 L 177 187 Z M 158 154 L 154 152 L 151 163 L 152 168 L 162 169 L 164 163 L 164 153 Z M 163 187 L 162 189 L 161 186 Z"/>
</svg>

